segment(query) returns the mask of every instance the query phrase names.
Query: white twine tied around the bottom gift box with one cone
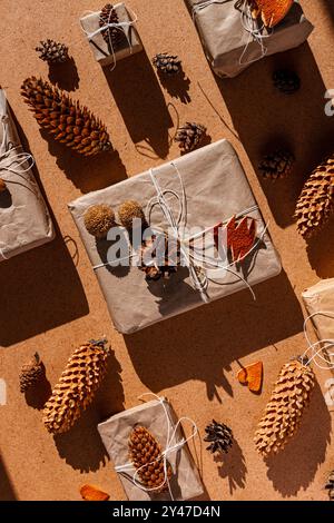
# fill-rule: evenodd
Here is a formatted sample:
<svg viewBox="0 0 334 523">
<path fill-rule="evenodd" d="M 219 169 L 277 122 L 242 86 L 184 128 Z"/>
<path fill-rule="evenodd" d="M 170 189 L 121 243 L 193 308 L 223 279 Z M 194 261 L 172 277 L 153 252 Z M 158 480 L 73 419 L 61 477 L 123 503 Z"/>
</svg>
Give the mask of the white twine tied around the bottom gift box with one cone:
<svg viewBox="0 0 334 523">
<path fill-rule="evenodd" d="M 150 463 L 147 463 L 147 464 L 140 466 L 139 468 L 137 468 L 136 472 L 132 475 L 129 475 L 129 471 L 134 470 L 134 464 L 132 463 L 126 463 L 125 465 L 118 465 L 118 466 L 115 467 L 115 470 L 116 470 L 117 473 L 124 474 L 125 477 L 129 478 L 134 483 L 134 485 L 137 486 L 140 491 L 144 491 L 144 492 L 147 492 L 147 493 L 155 492 L 155 491 L 160 491 L 167 484 L 168 492 L 169 492 L 169 495 L 170 495 L 170 500 L 175 501 L 174 495 L 173 495 L 173 491 L 171 491 L 171 486 L 170 486 L 170 482 L 169 482 L 169 477 L 168 477 L 168 456 L 171 453 L 180 451 L 190 440 L 194 440 L 195 436 L 198 434 L 198 427 L 197 427 L 196 423 L 193 420 L 190 420 L 189 417 L 183 416 L 175 424 L 174 430 L 171 430 L 170 420 L 169 420 L 168 412 L 167 412 L 167 408 L 166 408 L 166 405 L 165 405 L 165 398 L 159 397 L 154 393 L 146 393 L 146 394 L 143 394 L 141 396 L 139 396 L 139 399 L 144 396 L 154 396 L 160 403 L 160 405 L 164 409 L 166 425 L 167 425 L 167 438 L 166 438 L 167 441 L 166 441 L 165 450 L 160 454 L 160 456 L 156 457 Z M 181 428 L 183 422 L 189 422 L 193 425 L 193 431 L 191 431 L 191 434 L 188 437 L 186 437 L 186 438 L 183 437 L 180 441 L 177 441 L 177 432 L 179 431 L 179 428 Z M 140 483 L 140 481 L 138 480 L 138 475 L 140 474 L 141 470 L 145 470 L 145 468 L 149 467 L 150 465 L 154 465 L 155 463 L 160 463 L 161 458 L 164 461 L 164 481 L 158 486 L 154 486 L 154 487 L 144 486 Z"/>
</svg>

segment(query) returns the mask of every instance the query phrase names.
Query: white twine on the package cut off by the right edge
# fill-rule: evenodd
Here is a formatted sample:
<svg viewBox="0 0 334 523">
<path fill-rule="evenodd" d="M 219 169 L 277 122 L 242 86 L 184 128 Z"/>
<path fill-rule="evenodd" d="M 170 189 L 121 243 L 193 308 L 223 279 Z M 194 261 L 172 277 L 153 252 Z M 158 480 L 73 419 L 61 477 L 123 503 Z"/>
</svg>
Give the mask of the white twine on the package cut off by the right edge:
<svg viewBox="0 0 334 523">
<path fill-rule="evenodd" d="M 334 347 L 334 339 L 321 339 L 320 342 L 313 343 L 307 334 L 308 322 L 315 316 L 327 316 L 334 319 L 333 310 L 320 310 L 307 316 L 304 322 L 304 336 L 308 346 L 305 353 L 303 354 L 302 358 L 307 359 L 306 365 L 311 365 L 311 363 L 313 362 L 318 368 L 334 369 L 334 352 L 328 352 L 328 348 Z M 311 356 L 308 354 L 311 354 Z M 321 363 L 318 363 L 318 361 L 324 362 L 326 365 L 322 365 Z"/>
</svg>

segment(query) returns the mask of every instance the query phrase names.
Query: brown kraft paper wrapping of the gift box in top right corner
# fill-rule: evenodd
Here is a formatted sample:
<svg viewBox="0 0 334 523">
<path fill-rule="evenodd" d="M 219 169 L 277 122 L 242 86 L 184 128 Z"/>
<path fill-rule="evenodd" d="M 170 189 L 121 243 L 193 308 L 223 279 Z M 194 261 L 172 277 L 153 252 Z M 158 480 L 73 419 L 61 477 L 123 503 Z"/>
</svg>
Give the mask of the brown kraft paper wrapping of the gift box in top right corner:
<svg viewBox="0 0 334 523">
<path fill-rule="evenodd" d="M 220 78 L 236 77 L 264 56 L 298 47 L 314 27 L 296 1 L 273 30 L 262 29 L 261 43 L 245 29 L 236 0 L 186 0 L 193 13 L 206 57 Z M 262 21 L 258 22 L 258 27 Z"/>
</svg>

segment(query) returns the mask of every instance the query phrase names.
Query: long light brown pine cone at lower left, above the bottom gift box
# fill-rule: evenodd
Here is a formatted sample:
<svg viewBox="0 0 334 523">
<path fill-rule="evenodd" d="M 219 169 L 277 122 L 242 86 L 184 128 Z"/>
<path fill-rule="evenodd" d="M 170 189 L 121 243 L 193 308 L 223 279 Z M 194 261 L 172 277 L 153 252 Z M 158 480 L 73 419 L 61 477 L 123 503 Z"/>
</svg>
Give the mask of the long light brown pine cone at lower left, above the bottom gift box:
<svg viewBox="0 0 334 523">
<path fill-rule="evenodd" d="M 107 369 L 107 341 L 90 341 L 77 348 L 43 409 L 43 424 L 51 434 L 69 431 L 92 402 Z"/>
</svg>

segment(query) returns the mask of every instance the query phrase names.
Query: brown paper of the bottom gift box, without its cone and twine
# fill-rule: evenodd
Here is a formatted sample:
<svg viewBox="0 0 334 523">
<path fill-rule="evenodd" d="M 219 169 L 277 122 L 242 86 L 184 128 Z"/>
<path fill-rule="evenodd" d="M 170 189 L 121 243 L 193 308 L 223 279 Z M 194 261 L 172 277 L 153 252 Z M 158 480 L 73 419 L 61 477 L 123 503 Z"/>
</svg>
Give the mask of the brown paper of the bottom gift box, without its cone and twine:
<svg viewBox="0 0 334 523">
<path fill-rule="evenodd" d="M 166 398 L 161 402 L 154 399 L 151 402 L 138 405 L 137 407 L 116 414 L 104 423 L 98 425 L 99 434 L 105 447 L 114 462 L 114 465 L 122 466 L 129 463 L 128 440 L 135 426 L 145 426 L 160 443 L 165 450 L 167 445 L 168 425 L 165 409 L 170 423 L 170 434 L 177 424 L 177 416 Z M 186 427 L 186 424 L 185 424 Z M 191 428 L 191 427 L 190 427 Z M 190 435 L 187 434 L 188 436 Z M 171 443 L 180 442 L 185 437 L 183 430 L 178 425 L 176 438 Z M 173 478 L 170 489 L 175 501 L 190 500 L 203 494 L 203 484 L 199 478 L 198 470 L 190 455 L 187 444 L 179 451 L 168 454 L 168 463 L 173 468 Z M 131 501 L 164 501 L 170 500 L 169 493 L 151 494 L 140 490 L 134 484 L 130 477 L 136 470 L 131 467 L 126 474 L 119 473 L 125 492 Z"/>
</svg>

